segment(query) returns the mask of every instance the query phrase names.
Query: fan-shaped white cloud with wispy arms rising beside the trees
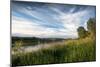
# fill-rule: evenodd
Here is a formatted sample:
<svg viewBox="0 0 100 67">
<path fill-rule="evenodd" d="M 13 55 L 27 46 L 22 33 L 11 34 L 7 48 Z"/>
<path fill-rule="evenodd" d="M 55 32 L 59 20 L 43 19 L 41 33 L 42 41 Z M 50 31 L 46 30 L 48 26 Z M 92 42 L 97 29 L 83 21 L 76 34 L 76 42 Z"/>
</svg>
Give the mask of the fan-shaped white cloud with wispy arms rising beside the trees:
<svg viewBox="0 0 100 67">
<path fill-rule="evenodd" d="M 88 7 L 86 7 L 86 9 L 84 10 L 80 9 L 80 11 L 73 13 L 76 10 L 75 8 L 76 7 L 71 8 L 70 11 L 67 13 L 58 10 L 57 8 L 51 8 L 52 10 L 59 13 L 59 16 L 56 19 L 63 24 L 65 28 L 64 32 L 66 33 L 66 35 L 72 36 L 72 37 L 70 36 L 70 38 L 78 37 L 77 28 L 79 26 L 83 26 L 87 30 L 87 24 L 86 24 L 87 20 L 93 17 L 93 15 L 91 14 L 95 13 L 93 10 L 88 9 Z"/>
</svg>

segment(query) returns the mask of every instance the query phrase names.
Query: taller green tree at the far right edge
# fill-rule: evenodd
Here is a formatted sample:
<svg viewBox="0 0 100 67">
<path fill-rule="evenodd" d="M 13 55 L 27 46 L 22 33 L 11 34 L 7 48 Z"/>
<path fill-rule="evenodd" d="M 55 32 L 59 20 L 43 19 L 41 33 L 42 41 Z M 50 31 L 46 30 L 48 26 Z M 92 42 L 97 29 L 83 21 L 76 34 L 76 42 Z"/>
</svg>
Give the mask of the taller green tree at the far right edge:
<svg viewBox="0 0 100 67">
<path fill-rule="evenodd" d="M 90 18 L 87 22 L 87 29 L 91 33 L 96 32 L 96 20 L 94 18 Z"/>
</svg>

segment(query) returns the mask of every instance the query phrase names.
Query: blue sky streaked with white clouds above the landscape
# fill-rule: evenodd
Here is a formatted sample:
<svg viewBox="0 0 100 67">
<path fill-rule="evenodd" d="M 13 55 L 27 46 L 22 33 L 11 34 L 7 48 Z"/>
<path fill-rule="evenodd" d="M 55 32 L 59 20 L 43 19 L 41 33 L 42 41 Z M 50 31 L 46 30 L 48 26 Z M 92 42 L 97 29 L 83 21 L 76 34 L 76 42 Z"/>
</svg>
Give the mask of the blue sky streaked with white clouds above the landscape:
<svg viewBox="0 0 100 67">
<path fill-rule="evenodd" d="M 87 30 L 89 18 L 96 17 L 95 6 L 12 2 L 12 36 L 77 38 L 77 28 Z"/>
</svg>

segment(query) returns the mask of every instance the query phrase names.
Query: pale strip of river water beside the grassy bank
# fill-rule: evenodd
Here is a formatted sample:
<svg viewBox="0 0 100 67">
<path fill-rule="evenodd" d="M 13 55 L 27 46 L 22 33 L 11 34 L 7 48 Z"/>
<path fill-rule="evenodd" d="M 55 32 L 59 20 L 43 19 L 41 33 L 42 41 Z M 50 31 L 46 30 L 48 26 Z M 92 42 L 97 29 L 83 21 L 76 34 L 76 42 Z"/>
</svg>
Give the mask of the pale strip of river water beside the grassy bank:
<svg viewBox="0 0 100 67">
<path fill-rule="evenodd" d="M 50 47 L 53 46 L 59 46 L 59 45 L 63 45 L 65 44 L 65 42 L 54 42 L 54 43 L 45 43 L 45 44 L 38 44 L 38 45 L 34 45 L 34 46 L 22 46 L 20 47 L 20 52 L 33 52 L 33 51 L 38 51 L 41 49 L 48 49 Z M 15 52 L 12 51 L 12 53 L 14 54 Z"/>
</svg>

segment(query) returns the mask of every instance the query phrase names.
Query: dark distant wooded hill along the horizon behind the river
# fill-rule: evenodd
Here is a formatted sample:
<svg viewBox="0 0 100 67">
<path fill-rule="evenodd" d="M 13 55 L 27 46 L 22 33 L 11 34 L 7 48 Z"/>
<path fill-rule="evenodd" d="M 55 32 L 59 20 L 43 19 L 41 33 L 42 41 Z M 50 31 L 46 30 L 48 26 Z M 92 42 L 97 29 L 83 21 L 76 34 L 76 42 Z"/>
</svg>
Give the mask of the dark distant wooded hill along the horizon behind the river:
<svg viewBox="0 0 100 67">
<path fill-rule="evenodd" d="M 22 41 L 24 45 L 37 45 L 39 43 L 57 42 L 65 39 L 62 38 L 37 38 L 37 37 L 12 37 L 12 44 Z"/>
</svg>

